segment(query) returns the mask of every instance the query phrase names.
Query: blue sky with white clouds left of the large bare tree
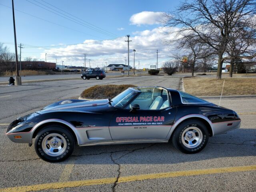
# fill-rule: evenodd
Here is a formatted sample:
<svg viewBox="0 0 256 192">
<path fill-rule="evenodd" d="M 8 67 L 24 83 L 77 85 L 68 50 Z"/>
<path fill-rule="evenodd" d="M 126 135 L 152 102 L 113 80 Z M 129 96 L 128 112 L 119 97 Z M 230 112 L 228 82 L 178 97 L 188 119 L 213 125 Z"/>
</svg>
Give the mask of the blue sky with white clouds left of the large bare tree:
<svg viewBox="0 0 256 192">
<path fill-rule="evenodd" d="M 100 62 L 124 63 L 124 57 L 127 59 L 127 43 L 124 42 L 124 36 L 130 34 L 131 52 L 136 49 L 136 56 L 141 65 L 148 67 L 156 62 L 154 61 L 156 49 L 160 50 L 160 62 L 168 59 L 169 50 L 161 44 L 161 35 L 159 35 L 161 24 L 157 21 L 160 12 L 173 10 L 178 3 L 170 0 L 130 0 L 129 2 L 120 0 L 14 0 L 17 42 L 25 44 L 25 48 L 22 49 L 23 57 L 43 59 L 44 54 L 47 53 L 48 61 L 54 61 L 57 58 L 64 60 L 66 64 L 82 65 L 83 56 L 80 53 L 87 53 L 87 58 L 91 59 L 92 64 L 96 66 Z M 82 23 L 72 22 L 35 4 L 57 14 L 66 14 L 66 16 L 62 15 L 64 17 L 72 14 L 83 21 L 75 18 L 76 22 Z M 13 43 L 12 10 L 6 6 L 12 6 L 11 0 L 0 2 L 0 42 Z M 106 31 L 98 32 L 81 24 L 93 28 L 97 26 L 97 30 L 101 30 L 98 28 L 100 27 L 111 34 L 107 35 Z M 107 40 L 116 37 L 123 38 Z M 98 42 L 98 40 L 107 41 Z M 77 45 L 58 46 L 60 44 Z M 6 46 L 14 51 L 13 44 L 6 44 Z M 133 60 L 132 53 L 130 62 L 131 60 Z"/>
</svg>

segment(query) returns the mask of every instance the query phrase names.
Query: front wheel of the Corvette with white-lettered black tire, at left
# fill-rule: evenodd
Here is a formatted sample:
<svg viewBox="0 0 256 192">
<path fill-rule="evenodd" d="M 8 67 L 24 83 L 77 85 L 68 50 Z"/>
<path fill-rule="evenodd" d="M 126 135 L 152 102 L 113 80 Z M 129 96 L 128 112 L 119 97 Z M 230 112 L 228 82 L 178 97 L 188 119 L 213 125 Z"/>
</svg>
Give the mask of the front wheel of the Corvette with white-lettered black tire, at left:
<svg viewBox="0 0 256 192">
<path fill-rule="evenodd" d="M 59 152 L 58 148 L 54 148 L 49 144 L 45 145 L 45 142 L 49 142 L 53 144 L 53 142 L 55 141 L 54 134 L 56 135 L 56 139 L 59 141 L 57 142 L 57 144 L 59 143 L 60 145 L 61 153 Z M 53 140 L 53 142 L 50 142 L 51 140 Z M 45 160 L 48 162 L 64 161 L 66 158 L 68 158 L 72 154 L 74 150 L 74 145 L 75 145 L 75 141 L 70 131 L 67 130 L 64 126 L 54 125 L 54 124 L 46 126 L 40 132 L 38 132 L 35 140 L 36 153 L 40 158 L 42 158 L 42 160 Z M 58 151 L 55 151 L 56 154 L 50 155 L 48 154 L 50 151 L 49 150 L 50 148 L 54 148 L 54 150 L 58 150 Z M 54 150 L 52 153 L 55 153 Z M 58 155 L 58 153 L 60 154 Z"/>
</svg>

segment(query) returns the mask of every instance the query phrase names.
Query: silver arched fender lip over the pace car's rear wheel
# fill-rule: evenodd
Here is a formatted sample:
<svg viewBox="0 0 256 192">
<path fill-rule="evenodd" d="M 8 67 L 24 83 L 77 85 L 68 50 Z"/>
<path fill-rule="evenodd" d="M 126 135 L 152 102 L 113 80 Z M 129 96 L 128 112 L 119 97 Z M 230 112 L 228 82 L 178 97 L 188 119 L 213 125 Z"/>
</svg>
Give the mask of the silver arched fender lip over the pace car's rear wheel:
<svg viewBox="0 0 256 192">
<path fill-rule="evenodd" d="M 208 118 L 206 118 L 206 116 L 203 115 L 199 115 L 199 114 L 193 114 L 193 115 L 187 115 L 184 116 L 180 119 L 178 119 L 173 125 L 172 128 L 170 129 L 170 132 L 168 133 L 166 139 L 170 140 L 172 133 L 174 132 L 174 130 L 183 122 L 187 121 L 187 120 L 191 120 L 191 119 L 196 119 L 201 121 L 207 128 L 208 132 L 209 132 L 209 136 L 214 136 L 214 132 L 213 132 L 213 128 L 212 128 L 212 123 L 210 122 L 210 120 Z"/>
</svg>

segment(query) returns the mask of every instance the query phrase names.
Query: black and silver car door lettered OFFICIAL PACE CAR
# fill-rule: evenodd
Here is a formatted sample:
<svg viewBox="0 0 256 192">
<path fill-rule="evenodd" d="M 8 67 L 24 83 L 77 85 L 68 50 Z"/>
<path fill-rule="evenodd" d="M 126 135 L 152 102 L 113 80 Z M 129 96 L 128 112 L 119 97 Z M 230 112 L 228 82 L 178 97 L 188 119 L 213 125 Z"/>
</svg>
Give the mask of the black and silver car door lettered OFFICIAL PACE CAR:
<svg viewBox="0 0 256 192">
<path fill-rule="evenodd" d="M 152 107 L 151 109 L 147 110 L 140 109 L 131 111 L 131 109 L 126 107 L 117 110 L 113 114 L 109 127 L 112 139 L 164 140 L 172 127 L 177 110 L 176 108 L 171 107 L 168 94 L 165 96 L 161 95 L 161 97 L 165 97 L 165 99 L 161 100 L 161 106 L 157 109 Z M 150 103 L 151 106 L 154 105 L 155 100 Z M 136 101 L 140 102 L 140 98 L 136 98 L 131 102 L 131 104 L 136 104 Z M 145 106 L 144 103 L 142 103 L 142 105 Z"/>
</svg>

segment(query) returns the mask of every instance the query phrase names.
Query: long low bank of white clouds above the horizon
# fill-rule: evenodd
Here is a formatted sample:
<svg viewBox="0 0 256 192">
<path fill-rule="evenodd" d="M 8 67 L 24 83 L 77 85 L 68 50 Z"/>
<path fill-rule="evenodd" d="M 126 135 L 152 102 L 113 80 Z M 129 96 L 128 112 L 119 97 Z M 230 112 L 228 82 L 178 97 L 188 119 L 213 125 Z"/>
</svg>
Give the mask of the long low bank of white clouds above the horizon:
<svg viewBox="0 0 256 192">
<path fill-rule="evenodd" d="M 140 68 L 149 68 L 150 65 L 156 63 L 156 50 L 160 50 L 158 54 L 158 64 L 161 66 L 162 61 L 168 60 L 168 55 L 171 54 L 170 47 L 162 44 L 162 39 L 166 38 L 161 33 L 162 28 L 154 28 L 152 30 L 143 30 L 134 32 L 130 37 L 130 64 L 133 66 L 133 49 L 135 53 L 135 66 L 138 67 L 140 61 Z M 167 37 L 168 39 L 173 38 Z M 84 55 L 86 53 L 87 59 L 90 59 L 92 67 L 102 66 L 102 62 L 107 64 L 125 64 L 127 60 L 127 40 L 126 37 L 116 38 L 114 40 L 84 40 L 81 44 L 63 46 L 61 48 L 51 48 L 44 50 L 41 53 L 41 58 L 45 58 L 47 52 L 47 60 L 55 58 L 58 61 L 64 61 L 65 65 L 82 66 L 84 62 Z M 88 60 L 86 61 L 86 66 Z"/>
</svg>

